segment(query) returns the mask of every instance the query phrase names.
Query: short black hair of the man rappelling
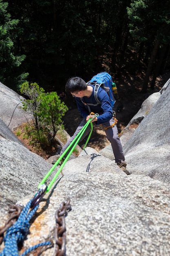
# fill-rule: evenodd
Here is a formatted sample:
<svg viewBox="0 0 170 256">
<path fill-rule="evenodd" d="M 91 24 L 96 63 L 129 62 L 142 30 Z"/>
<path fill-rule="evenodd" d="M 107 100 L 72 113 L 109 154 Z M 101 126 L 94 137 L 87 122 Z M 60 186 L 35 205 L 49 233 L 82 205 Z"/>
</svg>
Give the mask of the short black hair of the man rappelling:
<svg viewBox="0 0 170 256">
<path fill-rule="evenodd" d="M 79 91 L 84 91 L 86 90 L 87 85 L 86 82 L 78 77 L 72 77 L 70 79 L 68 79 L 68 81 L 66 82 L 66 92 L 79 92 Z"/>
</svg>

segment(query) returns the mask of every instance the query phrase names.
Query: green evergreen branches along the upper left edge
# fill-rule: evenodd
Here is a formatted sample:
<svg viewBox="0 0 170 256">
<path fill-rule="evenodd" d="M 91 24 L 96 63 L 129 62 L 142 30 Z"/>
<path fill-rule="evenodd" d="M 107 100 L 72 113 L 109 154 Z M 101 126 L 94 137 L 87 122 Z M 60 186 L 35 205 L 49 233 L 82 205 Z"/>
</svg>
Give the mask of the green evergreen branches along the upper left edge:
<svg viewBox="0 0 170 256">
<path fill-rule="evenodd" d="M 12 81 L 11 83 L 18 86 L 22 76 L 22 73 L 18 73 L 18 67 L 26 55 L 16 53 L 16 40 L 20 35 L 19 20 L 11 19 L 7 8 L 8 3 L 0 0 L 0 79 L 3 83 Z"/>
</svg>

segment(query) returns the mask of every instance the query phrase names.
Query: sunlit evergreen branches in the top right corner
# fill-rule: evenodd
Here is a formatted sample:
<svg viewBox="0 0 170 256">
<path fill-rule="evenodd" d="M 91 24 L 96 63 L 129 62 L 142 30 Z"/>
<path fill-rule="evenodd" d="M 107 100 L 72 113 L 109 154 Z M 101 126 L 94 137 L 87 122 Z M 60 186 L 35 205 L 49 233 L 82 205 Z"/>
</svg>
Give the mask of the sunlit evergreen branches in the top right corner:
<svg viewBox="0 0 170 256">
<path fill-rule="evenodd" d="M 152 42 L 153 39 L 159 38 L 169 42 L 169 4 L 169 1 L 132 0 L 130 7 L 127 7 L 132 36 L 141 41 Z"/>
</svg>

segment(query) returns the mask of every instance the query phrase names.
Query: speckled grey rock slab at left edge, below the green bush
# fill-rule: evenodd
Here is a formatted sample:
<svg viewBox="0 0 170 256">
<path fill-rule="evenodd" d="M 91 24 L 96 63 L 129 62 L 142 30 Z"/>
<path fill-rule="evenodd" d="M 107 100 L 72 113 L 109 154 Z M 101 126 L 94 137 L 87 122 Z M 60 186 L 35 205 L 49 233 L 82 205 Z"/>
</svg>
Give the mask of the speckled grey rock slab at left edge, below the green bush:
<svg viewBox="0 0 170 256">
<path fill-rule="evenodd" d="M 9 204 L 15 204 L 18 199 L 34 195 L 51 167 L 18 142 L 0 138 L 0 208 L 8 209 Z"/>
</svg>

